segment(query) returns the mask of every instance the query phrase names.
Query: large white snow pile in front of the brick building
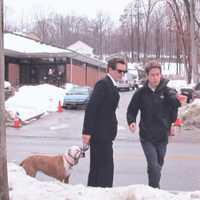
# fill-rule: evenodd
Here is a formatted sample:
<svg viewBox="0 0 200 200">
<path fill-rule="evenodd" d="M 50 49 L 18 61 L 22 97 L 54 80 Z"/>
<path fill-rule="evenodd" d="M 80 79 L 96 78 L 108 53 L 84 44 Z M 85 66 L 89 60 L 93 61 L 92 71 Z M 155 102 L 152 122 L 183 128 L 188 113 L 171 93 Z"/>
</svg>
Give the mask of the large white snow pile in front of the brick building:
<svg viewBox="0 0 200 200">
<path fill-rule="evenodd" d="M 56 111 L 58 102 L 63 104 L 65 90 L 53 85 L 22 86 L 5 102 L 10 116 L 18 115 L 22 121 L 29 120 L 48 111 Z"/>
</svg>

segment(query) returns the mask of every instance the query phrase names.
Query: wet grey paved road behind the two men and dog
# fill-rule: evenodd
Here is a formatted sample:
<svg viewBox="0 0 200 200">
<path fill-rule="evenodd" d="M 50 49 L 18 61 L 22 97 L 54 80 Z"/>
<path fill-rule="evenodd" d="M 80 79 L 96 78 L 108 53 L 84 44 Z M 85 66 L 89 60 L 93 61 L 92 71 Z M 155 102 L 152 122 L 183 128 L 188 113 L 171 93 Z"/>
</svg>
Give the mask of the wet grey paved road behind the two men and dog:
<svg viewBox="0 0 200 200">
<path fill-rule="evenodd" d="M 121 92 L 117 109 L 119 131 L 114 142 L 115 186 L 147 184 L 146 162 L 138 134 L 130 133 L 126 124 L 126 109 L 132 91 Z M 65 110 L 51 113 L 20 129 L 7 128 L 8 161 L 19 163 L 30 154 L 60 154 L 71 145 L 81 145 L 84 111 Z M 167 190 L 200 189 L 200 130 L 182 128 L 170 138 L 163 168 L 161 187 Z M 89 154 L 74 167 L 70 182 L 87 183 Z M 51 178 L 39 173 L 40 180 Z"/>
</svg>

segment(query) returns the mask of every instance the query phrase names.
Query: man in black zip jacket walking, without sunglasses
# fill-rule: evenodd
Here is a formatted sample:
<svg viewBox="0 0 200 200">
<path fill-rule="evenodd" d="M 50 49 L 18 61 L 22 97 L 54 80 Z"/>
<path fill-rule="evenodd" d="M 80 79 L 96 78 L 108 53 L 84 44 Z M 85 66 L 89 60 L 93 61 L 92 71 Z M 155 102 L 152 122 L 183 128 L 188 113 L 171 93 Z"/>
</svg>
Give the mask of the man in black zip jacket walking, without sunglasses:
<svg viewBox="0 0 200 200">
<path fill-rule="evenodd" d="M 140 110 L 139 135 L 147 160 L 149 185 L 160 188 L 161 169 L 167 149 L 171 124 L 177 118 L 180 103 L 176 90 L 167 87 L 161 65 L 153 60 L 146 66 L 147 81 L 133 95 L 127 110 L 129 129 L 134 132 Z"/>
</svg>

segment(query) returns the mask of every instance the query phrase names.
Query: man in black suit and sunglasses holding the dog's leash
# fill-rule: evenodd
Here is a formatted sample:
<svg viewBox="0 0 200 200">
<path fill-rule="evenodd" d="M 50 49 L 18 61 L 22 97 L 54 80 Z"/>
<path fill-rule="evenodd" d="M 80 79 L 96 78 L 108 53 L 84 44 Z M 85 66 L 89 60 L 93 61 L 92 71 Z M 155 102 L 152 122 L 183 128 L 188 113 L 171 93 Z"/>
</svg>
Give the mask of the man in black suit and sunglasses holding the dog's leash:
<svg viewBox="0 0 200 200">
<path fill-rule="evenodd" d="M 116 81 L 122 78 L 126 70 L 123 59 L 114 58 L 108 61 L 108 73 L 96 83 L 85 111 L 82 140 L 84 144 L 90 144 L 88 186 L 113 185 L 112 143 L 117 134 L 115 111 L 119 102 Z"/>
</svg>

